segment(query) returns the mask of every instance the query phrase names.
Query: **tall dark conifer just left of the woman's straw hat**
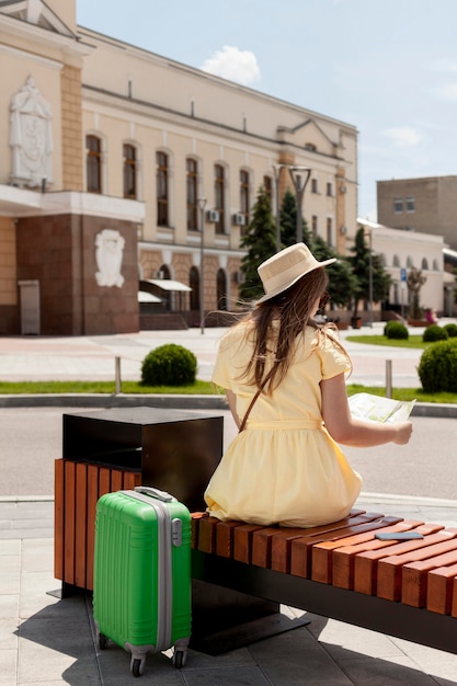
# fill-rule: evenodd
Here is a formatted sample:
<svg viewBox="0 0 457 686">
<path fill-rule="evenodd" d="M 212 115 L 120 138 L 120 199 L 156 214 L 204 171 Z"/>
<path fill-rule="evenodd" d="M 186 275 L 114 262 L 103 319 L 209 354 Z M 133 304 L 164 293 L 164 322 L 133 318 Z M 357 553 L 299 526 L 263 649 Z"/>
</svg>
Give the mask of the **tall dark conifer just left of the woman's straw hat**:
<svg viewBox="0 0 457 686">
<path fill-rule="evenodd" d="M 263 186 L 259 188 L 252 208 L 252 219 L 241 238 L 240 247 L 248 251 L 240 266 L 244 276 L 240 285 L 240 297 L 243 300 L 253 300 L 263 295 L 258 266 L 276 252 L 276 227 L 272 214 L 272 202 Z"/>
</svg>

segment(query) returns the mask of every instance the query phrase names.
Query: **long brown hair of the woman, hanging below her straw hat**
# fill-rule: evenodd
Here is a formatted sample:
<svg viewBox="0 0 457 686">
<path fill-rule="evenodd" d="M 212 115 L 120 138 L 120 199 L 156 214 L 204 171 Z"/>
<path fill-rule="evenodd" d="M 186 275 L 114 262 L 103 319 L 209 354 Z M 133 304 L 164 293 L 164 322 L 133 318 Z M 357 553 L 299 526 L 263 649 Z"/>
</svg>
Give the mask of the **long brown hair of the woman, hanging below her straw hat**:
<svg viewBox="0 0 457 686">
<path fill-rule="evenodd" d="M 277 388 L 294 359 L 297 336 L 306 327 L 313 327 L 317 330 L 317 347 L 321 345 L 328 329 L 335 328 L 333 324 L 319 325 L 312 319 L 316 300 L 322 298 L 328 283 L 329 277 L 323 268 L 313 270 L 287 290 L 259 305 L 248 316 L 253 322 L 254 352 L 243 376 L 247 376 L 253 386 L 262 388 L 265 375 L 271 369 L 267 361 L 273 355 L 273 370 L 267 392 L 271 393 Z M 274 322 L 277 320 L 279 325 L 275 327 Z M 336 340 L 335 343 L 345 353 Z"/>
</svg>

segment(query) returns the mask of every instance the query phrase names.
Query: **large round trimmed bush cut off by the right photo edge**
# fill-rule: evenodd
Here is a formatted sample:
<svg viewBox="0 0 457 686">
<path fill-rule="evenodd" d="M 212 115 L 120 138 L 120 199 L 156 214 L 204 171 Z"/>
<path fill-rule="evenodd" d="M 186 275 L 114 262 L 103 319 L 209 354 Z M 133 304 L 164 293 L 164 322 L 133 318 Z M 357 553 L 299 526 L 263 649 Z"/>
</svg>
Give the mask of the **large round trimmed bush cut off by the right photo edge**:
<svg viewBox="0 0 457 686">
<path fill-rule="evenodd" d="M 457 340 L 438 341 L 427 347 L 418 367 L 422 388 L 429 393 L 457 392 Z"/>
</svg>

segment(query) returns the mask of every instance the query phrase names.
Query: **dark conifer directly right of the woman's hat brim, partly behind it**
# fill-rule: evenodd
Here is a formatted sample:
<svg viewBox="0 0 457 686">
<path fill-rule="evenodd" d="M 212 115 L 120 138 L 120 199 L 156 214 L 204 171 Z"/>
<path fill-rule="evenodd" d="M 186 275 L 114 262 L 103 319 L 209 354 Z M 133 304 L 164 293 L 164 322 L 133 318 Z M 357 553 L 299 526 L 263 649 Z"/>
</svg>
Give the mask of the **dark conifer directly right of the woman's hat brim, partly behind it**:
<svg viewBox="0 0 457 686">
<path fill-rule="evenodd" d="M 313 238 L 311 252 L 319 262 L 336 258 L 338 262 L 334 262 L 327 270 L 329 276 L 327 289 L 332 307 L 347 307 L 354 291 L 358 288 L 358 282 L 352 271 L 350 261 L 331 248 L 321 236 Z"/>
</svg>

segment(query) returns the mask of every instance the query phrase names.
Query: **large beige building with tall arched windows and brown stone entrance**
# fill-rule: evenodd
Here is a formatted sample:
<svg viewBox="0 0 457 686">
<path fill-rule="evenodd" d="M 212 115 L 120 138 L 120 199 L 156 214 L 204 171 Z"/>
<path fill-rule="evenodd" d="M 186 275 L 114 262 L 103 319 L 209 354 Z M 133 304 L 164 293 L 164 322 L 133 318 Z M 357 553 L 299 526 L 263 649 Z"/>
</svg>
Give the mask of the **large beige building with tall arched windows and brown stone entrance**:
<svg viewBox="0 0 457 686">
<path fill-rule="evenodd" d="M 353 125 L 77 26 L 76 0 L 0 1 L 0 28 L 1 334 L 136 331 L 139 282 L 190 325 L 231 309 L 259 188 L 276 210 L 290 165 L 346 253 Z"/>
</svg>

